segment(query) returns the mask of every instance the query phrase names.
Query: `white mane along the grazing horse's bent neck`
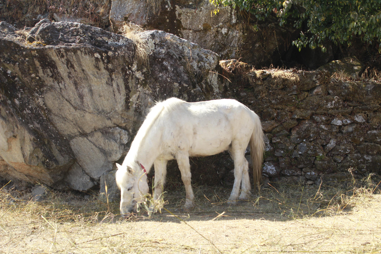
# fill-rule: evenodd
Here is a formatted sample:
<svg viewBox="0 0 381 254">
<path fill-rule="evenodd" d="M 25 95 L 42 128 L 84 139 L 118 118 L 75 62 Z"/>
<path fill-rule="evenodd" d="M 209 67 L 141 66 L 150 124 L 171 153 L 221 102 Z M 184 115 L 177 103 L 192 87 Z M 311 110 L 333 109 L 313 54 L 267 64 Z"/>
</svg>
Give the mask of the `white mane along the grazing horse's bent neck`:
<svg viewBox="0 0 381 254">
<path fill-rule="evenodd" d="M 155 104 L 155 106 L 153 106 L 149 110 L 149 113 L 147 114 L 143 124 L 141 125 L 141 127 L 137 131 L 136 136 L 131 143 L 131 147 L 129 148 L 129 151 L 133 151 L 133 154 L 130 154 L 130 152 L 128 152 L 127 155 L 129 155 L 133 159 L 135 159 L 136 154 L 138 153 L 138 150 L 139 150 L 140 143 L 144 140 L 149 129 L 154 125 L 154 123 L 159 118 L 159 116 L 161 114 L 165 114 L 165 113 L 168 113 L 168 112 L 175 110 L 184 102 L 185 101 L 180 100 L 178 98 L 170 98 L 170 99 L 167 99 L 165 101 L 157 102 Z"/>
</svg>

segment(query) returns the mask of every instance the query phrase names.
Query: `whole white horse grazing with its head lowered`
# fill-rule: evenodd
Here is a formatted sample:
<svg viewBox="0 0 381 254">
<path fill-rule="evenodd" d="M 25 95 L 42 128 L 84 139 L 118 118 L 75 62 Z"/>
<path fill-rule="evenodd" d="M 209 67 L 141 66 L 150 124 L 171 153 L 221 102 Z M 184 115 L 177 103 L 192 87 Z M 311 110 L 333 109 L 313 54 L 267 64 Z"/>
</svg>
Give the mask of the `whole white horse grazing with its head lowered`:
<svg viewBox="0 0 381 254">
<path fill-rule="evenodd" d="M 121 214 L 136 212 L 149 191 L 147 173 L 155 167 L 153 198 L 160 197 L 168 160 L 176 159 L 185 185 L 185 208 L 194 206 L 190 156 L 207 156 L 229 150 L 234 160 L 234 185 L 229 201 L 246 199 L 251 191 L 245 151 L 250 143 L 254 184 L 261 179 L 264 142 L 259 117 L 232 99 L 185 102 L 170 98 L 157 103 L 137 132 L 116 182 L 121 189 Z M 241 186 L 241 194 L 240 194 Z"/>
</svg>

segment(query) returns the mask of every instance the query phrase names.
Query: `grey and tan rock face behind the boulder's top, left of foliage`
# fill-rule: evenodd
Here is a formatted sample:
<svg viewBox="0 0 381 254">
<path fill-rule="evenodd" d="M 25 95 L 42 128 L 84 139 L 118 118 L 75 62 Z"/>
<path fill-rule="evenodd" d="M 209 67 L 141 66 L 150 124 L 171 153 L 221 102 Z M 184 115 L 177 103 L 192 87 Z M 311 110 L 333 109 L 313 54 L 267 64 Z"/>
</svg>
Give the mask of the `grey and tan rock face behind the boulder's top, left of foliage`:
<svg viewBox="0 0 381 254">
<path fill-rule="evenodd" d="M 154 2 L 154 1 L 151 1 Z M 279 62 L 299 35 L 292 27 L 274 24 L 249 24 L 231 7 L 220 7 L 217 14 L 209 0 L 150 2 L 113 0 L 110 20 L 114 32 L 123 22 L 133 22 L 145 29 L 159 29 L 197 43 L 222 59 L 241 59 L 256 67 Z"/>
</svg>

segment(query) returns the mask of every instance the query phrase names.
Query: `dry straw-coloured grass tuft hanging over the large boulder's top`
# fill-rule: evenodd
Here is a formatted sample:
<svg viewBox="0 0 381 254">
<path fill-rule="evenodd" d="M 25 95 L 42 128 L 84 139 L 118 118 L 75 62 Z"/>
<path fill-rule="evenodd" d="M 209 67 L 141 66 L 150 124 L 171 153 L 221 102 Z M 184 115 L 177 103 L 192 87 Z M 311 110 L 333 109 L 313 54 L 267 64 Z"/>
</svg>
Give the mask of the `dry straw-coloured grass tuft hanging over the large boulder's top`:
<svg viewBox="0 0 381 254">
<path fill-rule="evenodd" d="M 135 57 L 139 66 L 149 68 L 149 46 L 148 36 L 144 33 L 143 28 L 133 23 L 125 23 L 120 28 L 121 33 L 130 39 L 135 45 Z"/>
</svg>

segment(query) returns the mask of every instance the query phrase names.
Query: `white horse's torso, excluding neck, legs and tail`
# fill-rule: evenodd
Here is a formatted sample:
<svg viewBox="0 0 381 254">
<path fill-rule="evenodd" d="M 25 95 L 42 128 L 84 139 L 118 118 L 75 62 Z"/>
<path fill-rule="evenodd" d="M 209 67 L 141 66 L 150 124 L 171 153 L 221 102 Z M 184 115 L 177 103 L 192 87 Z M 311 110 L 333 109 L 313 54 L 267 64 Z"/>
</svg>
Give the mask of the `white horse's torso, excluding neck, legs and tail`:
<svg viewBox="0 0 381 254">
<path fill-rule="evenodd" d="M 253 132 L 254 113 L 236 100 L 173 102 L 176 107 L 162 119 L 163 142 L 173 153 L 183 149 L 191 156 L 217 154 L 227 150 L 234 139 L 248 142 Z"/>
</svg>

